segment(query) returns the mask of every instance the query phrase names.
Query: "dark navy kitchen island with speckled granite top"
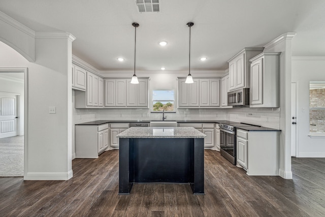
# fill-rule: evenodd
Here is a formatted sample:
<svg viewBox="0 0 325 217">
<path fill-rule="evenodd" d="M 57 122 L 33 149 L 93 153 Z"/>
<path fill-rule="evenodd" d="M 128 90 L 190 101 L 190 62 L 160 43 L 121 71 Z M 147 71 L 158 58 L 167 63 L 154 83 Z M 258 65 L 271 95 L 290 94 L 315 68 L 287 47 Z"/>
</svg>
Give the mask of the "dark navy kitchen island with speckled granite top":
<svg viewBox="0 0 325 217">
<path fill-rule="evenodd" d="M 134 183 L 189 183 L 204 194 L 205 134 L 191 127 L 132 127 L 119 138 L 119 194 Z"/>
</svg>

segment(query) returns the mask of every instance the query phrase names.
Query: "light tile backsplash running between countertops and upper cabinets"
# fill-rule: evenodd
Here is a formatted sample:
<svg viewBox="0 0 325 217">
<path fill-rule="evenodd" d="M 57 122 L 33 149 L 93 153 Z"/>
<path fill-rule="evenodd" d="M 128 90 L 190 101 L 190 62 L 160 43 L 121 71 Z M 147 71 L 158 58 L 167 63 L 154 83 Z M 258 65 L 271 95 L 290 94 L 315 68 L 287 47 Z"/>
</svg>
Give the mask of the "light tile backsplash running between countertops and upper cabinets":
<svg viewBox="0 0 325 217">
<path fill-rule="evenodd" d="M 231 120 L 279 129 L 279 108 L 176 109 L 166 120 Z M 75 123 L 92 120 L 160 120 L 150 109 L 75 109 Z"/>
</svg>

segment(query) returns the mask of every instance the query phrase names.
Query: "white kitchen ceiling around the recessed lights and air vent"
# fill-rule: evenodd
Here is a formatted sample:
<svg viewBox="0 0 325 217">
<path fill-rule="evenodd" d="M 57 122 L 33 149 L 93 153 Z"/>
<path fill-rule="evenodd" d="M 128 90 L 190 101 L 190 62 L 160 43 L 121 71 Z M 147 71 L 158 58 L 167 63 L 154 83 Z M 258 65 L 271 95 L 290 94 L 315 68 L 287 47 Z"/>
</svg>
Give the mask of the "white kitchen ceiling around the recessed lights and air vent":
<svg viewBox="0 0 325 217">
<path fill-rule="evenodd" d="M 225 70 L 245 47 L 263 47 L 296 32 L 293 56 L 325 56 L 324 0 L 159 0 L 159 13 L 139 13 L 134 0 L 0 0 L 0 11 L 36 32 L 73 34 L 73 54 L 101 71 Z M 161 47 L 158 42 L 167 41 Z M 200 57 L 208 57 L 206 61 Z M 119 62 L 117 57 L 125 58 Z"/>
</svg>

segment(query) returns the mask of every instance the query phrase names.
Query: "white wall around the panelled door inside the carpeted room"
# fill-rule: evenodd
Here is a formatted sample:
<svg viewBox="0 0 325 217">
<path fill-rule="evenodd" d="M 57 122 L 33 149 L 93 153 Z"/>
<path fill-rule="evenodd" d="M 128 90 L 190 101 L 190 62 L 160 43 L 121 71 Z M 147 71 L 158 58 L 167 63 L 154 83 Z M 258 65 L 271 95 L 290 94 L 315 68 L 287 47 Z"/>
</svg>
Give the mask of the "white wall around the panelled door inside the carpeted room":
<svg viewBox="0 0 325 217">
<path fill-rule="evenodd" d="M 1 42 L 0 42 L 1 43 Z M 2 58 L 3 53 L 0 52 L 0 59 Z M 12 74 L 20 74 L 17 78 L 11 77 Z M 18 135 L 23 136 L 24 135 L 24 73 L 10 73 L 10 72 L 0 72 L 0 92 L 10 92 L 17 94 L 19 96 L 19 129 L 18 129 Z"/>
</svg>

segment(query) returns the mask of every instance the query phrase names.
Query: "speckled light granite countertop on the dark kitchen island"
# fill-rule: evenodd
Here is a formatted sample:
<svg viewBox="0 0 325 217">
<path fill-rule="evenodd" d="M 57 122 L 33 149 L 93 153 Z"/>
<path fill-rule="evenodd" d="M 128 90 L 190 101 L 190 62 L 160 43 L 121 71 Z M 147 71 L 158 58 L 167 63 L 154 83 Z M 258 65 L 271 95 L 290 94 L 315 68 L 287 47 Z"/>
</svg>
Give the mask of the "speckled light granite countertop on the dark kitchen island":
<svg viewBox="0 0 325 217">
<path fill-rule="evenodd" d="M 117 138 L 205 138 L 206 135 L 191 127 L 132 127 L 116 136 Z"/>
</svg>

